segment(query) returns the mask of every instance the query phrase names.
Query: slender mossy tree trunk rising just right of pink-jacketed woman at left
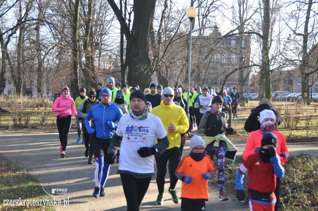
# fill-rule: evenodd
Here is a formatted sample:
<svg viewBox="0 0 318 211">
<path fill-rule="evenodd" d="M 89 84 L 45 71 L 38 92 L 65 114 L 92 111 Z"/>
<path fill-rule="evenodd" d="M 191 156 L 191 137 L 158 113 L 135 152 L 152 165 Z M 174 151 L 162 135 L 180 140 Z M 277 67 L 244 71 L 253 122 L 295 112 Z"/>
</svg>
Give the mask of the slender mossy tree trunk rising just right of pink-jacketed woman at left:
<svg viewBox="0 0 318 211">
<path fill-rule="evenodd" d="M 78 20 L 79 20 L 79 1 L 75 0 L 73 15 L 73 87 L 76 96 L 79 96 L 79 44 L 78 44 Z"/>
</svg>

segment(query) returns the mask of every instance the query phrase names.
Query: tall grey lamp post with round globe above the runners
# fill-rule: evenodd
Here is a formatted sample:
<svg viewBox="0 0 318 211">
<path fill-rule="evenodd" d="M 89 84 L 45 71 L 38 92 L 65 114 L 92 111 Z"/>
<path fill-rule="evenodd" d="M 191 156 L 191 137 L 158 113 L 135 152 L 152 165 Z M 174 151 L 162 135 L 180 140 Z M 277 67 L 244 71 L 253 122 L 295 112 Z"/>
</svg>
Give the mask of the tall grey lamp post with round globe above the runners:
<svg viewBox="0 0 318 211">
<path fill-rule="evenodd" d="M 197 17 L 197 8 L 195 8 L 193 5 L 191 5 L 186 13 L 187 17 L 190 19 L 190 40 L 189 40 L 189 65 L 188 65 L 188 106 L 187 106 L 187 116 L 188 116 L 188 120 L 190 122 L 190 113 L 189 113 L 189 101 L 190 101 L 190 67 L 191 67 L 191 36 L 192 36 L 192 21 L 194 20 L 195 17 Z"/>
</svg>

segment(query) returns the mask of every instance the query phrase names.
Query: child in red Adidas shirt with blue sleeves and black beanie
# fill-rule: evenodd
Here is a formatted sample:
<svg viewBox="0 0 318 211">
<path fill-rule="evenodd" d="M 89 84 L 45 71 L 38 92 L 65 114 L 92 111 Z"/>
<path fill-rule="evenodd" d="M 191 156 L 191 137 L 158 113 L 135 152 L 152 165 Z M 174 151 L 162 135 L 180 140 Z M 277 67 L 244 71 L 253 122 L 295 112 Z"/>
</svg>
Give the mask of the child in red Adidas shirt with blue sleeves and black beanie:
<svg viewBox="0 0 318 211">
<path fill-rule="evenodd" d="M 243 201 L 245 200 L 243 179 L 244 174 L 248 172 L 249 193 L 246 198 L 251 211 L 273 211 L 275 208 L 276 177 L 284 176 L 284 168 L 275 150 L 277 142 L 274 133 L 264 133 L 259 152 L 249 155 L 236 173 L 236 198 Z"/>
</svg>

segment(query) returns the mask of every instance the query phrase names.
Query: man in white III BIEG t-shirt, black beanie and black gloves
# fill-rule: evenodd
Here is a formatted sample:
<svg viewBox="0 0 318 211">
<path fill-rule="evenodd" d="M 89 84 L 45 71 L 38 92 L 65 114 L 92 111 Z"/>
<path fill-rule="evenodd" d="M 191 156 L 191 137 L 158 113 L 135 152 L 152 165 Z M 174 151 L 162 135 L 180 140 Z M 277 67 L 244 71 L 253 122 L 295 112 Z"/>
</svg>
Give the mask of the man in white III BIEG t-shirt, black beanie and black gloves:
<svg viewBox="0 0 318 211">
<path fill-rule="evenodd" d="M 159 117 L 147 112 L 146 97 L 140 90 L 130 94 L 130 106 L 130 113 L 118 123 L 105 160 L 113 163 L 120 149 L 117 173 L 121 176 L 127 210 L 140 210 L 154 175 L 154 155 L 163 153 L 169 140 Z"/>
</svg>

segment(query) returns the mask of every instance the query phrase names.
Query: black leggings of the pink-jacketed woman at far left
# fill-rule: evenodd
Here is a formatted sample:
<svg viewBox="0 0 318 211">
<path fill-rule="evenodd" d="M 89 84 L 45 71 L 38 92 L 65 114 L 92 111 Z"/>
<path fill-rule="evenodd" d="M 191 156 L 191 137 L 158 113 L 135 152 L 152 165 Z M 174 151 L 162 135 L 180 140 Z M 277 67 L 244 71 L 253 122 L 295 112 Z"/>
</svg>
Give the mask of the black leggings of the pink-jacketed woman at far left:
<svg viewBox="0 0 318 211">
<path fill-rule="evenodd" d="M 59 131 L 59 139 L 61 142 L 62 151 L 66 150 L 66 145 L 67 145 L 67 134 L 70 131 L 72 124 L 72 116 L 57 116 L 56 117 L 56 125 L 58 127 Z"/>
</svg>

